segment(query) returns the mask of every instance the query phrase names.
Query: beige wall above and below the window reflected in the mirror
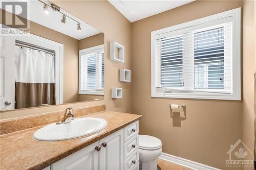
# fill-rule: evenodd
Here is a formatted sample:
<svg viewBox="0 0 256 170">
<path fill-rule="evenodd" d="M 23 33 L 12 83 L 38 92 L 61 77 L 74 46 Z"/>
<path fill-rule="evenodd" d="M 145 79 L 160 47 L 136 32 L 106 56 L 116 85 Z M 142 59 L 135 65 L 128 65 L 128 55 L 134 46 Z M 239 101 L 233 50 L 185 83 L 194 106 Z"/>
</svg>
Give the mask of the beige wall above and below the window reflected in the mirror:
<svg viewBox="0 0 256 170">
<path fill-rule="evenodd" d="M 97 45 L 104 44 L 104 34 L 99 33 L 97 35 L 93 35 L 91 37 L 87 37 L 79 40 L 79 50 L 83 50 L 86 48 L 90 48 Z M 95 99 L 103 100 L 104 95 L 90 95 L 90 94 L 78 94 L 77 102 L 82 101 L 93 101 Z"/>
</svg>

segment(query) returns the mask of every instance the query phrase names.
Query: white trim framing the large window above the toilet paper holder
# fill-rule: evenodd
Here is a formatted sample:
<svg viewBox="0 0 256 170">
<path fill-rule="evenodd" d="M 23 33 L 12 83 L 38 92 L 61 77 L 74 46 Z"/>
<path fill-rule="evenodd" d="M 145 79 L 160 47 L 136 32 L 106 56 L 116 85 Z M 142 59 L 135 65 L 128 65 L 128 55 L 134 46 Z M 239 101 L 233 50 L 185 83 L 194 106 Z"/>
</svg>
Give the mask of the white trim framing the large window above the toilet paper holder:
<svg viewBox="0 0 256 170">
<path fill-rule="evenodd" d="M 156 39 L 160 34 L 172 34 L 180 32 L 181 29 L 189 30 L 191 27 L 198 25 L 212 25 L 212 23 L 219 22 L 219 20 L 226 20 L 232 18 L 232 87 L 231 93 L 222 92 L 204 92 L 203 90 L 180 90 L 180 92 L 173 92 L 165 88 L 160 89 L 156 87 Z M 172 33 L 170 33 L 172 32 Z M 176 34 L 172 34 L 175 36 Z M 213 99 L 213 100 L 241 100 L 241 8 L 232 9 L 221 12 L 215 15 L 206 16 L 200 19 L 181 23 L 179 25 L 160 29 L 151 32 L 151 96 L 153 98 L 184 98 L 184 99 Z M 233 69 L 236 68 L 236 69 Z M 181 92 L 182 91 L 182 92 Z"/>
</svg>

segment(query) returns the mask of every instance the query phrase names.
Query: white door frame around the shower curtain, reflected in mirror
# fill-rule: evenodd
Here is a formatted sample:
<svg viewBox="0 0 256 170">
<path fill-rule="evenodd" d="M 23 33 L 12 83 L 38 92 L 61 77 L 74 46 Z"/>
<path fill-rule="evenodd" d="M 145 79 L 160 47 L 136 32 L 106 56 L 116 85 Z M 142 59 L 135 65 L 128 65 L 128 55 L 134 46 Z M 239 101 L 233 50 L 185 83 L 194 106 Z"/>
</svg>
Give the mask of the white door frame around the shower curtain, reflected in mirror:
<svg viewBox="0 0 256 170">
<path fill-rule="evenodd" d="M 55 73 L 55 96 L 56 105 L 63 103 L 63 44 L 28 34 L 28 36 L 15 36 L 15 40 L 42 46 L 55 51 L 54 73 Z"/>
</svg>

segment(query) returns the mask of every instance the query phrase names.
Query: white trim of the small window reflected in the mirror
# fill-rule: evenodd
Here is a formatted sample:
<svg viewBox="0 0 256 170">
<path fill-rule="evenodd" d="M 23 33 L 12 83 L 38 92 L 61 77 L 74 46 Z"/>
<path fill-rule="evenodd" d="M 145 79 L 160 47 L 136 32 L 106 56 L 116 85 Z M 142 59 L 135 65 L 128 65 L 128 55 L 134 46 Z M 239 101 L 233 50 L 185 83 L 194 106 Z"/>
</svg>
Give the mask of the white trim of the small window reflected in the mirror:
<svg viewBox="0 0 256 170">
<path fill-rule="evenodd" d="M 80 86 L 80 83 L 81 83 L 81 74 L 80 74 L 81 56 L 89 54 L 89 53 L 99 52 L 99 51 L 103 51 L 104 52 L 104 44 L 93 46 L 93 47 L 89 47 L 89 48 L 85 48 L 83 50 L 79 50 L 78 94 L 104 95 L 104 88 L 101 88 L 101 89 L 90 89 L 90 90 L 83 90 L 83 91 L 81 91 L 81 89 L 80 89 L 80 87 L 81 87 Z"/>
</svg>

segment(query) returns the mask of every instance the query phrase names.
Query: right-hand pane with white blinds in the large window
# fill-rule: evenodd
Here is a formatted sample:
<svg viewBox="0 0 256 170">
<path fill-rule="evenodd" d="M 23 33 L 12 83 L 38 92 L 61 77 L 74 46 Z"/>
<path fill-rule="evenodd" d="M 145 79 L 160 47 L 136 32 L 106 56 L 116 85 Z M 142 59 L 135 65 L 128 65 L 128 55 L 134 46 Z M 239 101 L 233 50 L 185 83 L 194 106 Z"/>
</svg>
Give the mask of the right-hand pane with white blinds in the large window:
<svg viewBox="0 0 256 170">
<path fill-rule="evenodd" d="M 224 85 L 224 73 L 230 69 L 230 67 L 224 68 L 224 59 L 229 60 L 230 56 L 230 51 L 227 50 L 231 41 L 230 27 L 229 23 L 194 33 L 195 89 L 225 89 L 227 86 L 226 88 L 230 90 L 228 85 Z M 224 43 L 224 37 L 229 44 Z M 226 53 L 224 53 L 225 46 Z M 226 63 L 228 64 L 229 61 Z M 228 76 L 230 75 L 226 75 Z"/>
</svg>

